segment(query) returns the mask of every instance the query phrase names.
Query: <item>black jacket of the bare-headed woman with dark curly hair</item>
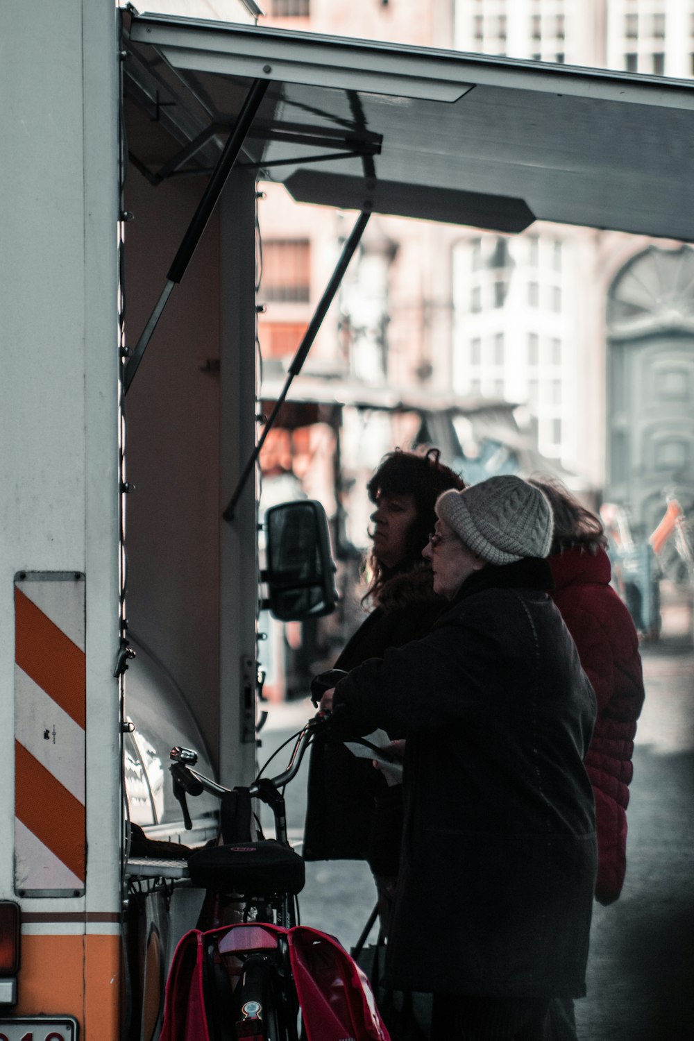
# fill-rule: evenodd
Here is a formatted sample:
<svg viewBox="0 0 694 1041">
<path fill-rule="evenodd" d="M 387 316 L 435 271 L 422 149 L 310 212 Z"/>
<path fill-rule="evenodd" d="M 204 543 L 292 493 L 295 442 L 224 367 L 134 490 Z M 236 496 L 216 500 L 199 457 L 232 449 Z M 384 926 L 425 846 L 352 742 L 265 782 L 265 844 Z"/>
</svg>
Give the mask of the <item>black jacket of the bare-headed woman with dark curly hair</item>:
<svg viewBox="0 0 694 1041">
<path fill-rule="evenodd" d="M 382 657 L 388 648 L 419 639 L 445 605 L 434 594 L 428 568 L 392 579 L 384 601 L 352 636 L 335 668 L 349 671 L 367 658 Z M 320 737 L 314 740 L 308 773 L 305 860 L 368 860 L 376 872 L 396 874 L 401 822 L 402 786 L 388 788 L 370 760 L 356 759 L 341 742 Z"/>
</svg>

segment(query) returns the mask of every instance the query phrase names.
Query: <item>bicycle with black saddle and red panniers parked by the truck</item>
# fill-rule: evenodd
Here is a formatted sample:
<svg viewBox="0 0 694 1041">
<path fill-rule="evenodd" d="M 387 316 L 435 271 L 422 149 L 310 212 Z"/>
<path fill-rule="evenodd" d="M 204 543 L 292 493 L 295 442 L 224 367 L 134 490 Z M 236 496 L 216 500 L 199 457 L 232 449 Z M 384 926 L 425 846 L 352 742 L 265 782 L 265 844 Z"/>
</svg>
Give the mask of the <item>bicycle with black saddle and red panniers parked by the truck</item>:
<svg viewBox="0 0 694 1041">
<path fill-rule="evenodd" d="M 287 839 L 283 789 L 326 722 L 325 713 L 310 719 L 295 736 L 287 767 L 246 789 L 230 790 L 199 773 L 191 750 L 172 751 L 174 794 L 186 828 L 186 795 L 207 791 L 222 801 L 224 844 L 188 858 L 191 884 L 208 893 L 212 928 L 194 930 L 177 947 L 162 1041 L 388 1041 L 361 969 L 334 938 L 298 924 L 305 869 Z M 246 837 L 252 798 L 271 808 L 275 839 Z M 237 920 L 222 921 L 230 909 Z"/>
</svg>

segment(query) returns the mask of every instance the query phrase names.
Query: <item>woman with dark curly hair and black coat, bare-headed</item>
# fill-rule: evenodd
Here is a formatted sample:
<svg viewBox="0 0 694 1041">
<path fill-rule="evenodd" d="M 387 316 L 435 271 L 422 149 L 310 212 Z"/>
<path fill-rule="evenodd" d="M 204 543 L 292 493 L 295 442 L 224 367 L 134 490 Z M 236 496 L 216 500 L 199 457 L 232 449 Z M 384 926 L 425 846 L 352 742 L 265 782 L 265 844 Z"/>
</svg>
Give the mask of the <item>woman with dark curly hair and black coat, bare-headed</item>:
<svg viewBox="0 0 694 1041">
<path fill-rule="evenodd" d="M 418 639 L 441 610 L 444 602 L 434 592 L 431 566 L 421 551 L 436 522 L 437 498 L 464 484 L 439 457 L 437 449 L 396 449 L 385 456 L 366 486 L 375 510 L 364 603 L 372 610 L 335 668 L 349 671 L 367 658 L 382 657 L 388 648 Z M 400 785 L 388 788 L 370 762 L 355 759 L 341 744 L 316 741 L 309 768 L 305 859 L 367 860 L 382 904 L 387 905 L 397 874 L 401 791 Z"/>
</svg>

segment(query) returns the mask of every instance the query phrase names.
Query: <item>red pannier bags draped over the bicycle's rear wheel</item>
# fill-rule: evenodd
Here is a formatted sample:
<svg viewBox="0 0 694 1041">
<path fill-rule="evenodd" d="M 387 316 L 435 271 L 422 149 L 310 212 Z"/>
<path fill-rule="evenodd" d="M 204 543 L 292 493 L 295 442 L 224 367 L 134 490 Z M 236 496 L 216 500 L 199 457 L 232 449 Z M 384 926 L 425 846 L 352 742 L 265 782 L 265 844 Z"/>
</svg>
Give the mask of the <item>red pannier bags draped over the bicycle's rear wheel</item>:
<svg viewBox="0 0 694 1041">
<path fill-rule="evenodd" d="M 203 992 L 204 948 L 239 923 L 181 939 L 172 961 L 160 1041 L 210 1041 Z M 314 929 L 290 930 L 262 923 L 262 932 L 287 935 L 291 970 L 307 1041 L 390 1041 L 368 980 L 337 940 Z M 246 940 L 242 949 L 248 950 Z"/>
</svg>

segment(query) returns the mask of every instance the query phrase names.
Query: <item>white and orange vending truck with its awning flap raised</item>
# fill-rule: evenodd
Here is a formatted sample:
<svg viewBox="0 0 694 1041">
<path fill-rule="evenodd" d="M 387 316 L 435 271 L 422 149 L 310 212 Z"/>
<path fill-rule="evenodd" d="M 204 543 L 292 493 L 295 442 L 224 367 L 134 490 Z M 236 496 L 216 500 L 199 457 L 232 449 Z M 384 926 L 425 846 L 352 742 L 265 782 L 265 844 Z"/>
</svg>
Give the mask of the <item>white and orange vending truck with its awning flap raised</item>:
<svg viewBox="0 0 694 1041">
<path fill-rule="evenodd" d="M 694 87 L 110 0 L 7 0 L 0 82 L 0 1041 L 149 1041 L 153 732 L 255 762 L 258 179 L 356 211 L 315 331 L 374 211 L 691 240 Z"/>
</svg>

